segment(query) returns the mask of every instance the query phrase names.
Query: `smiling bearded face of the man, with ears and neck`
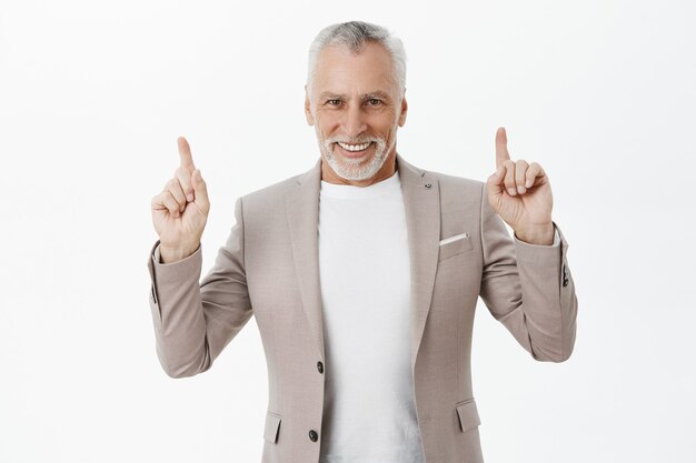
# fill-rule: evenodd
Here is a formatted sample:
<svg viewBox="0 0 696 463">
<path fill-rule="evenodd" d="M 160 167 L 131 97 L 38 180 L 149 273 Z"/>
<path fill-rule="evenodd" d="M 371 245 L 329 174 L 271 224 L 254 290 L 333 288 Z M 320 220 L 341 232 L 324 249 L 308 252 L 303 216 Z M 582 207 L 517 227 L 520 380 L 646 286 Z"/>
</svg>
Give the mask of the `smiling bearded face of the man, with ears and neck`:
<svg viewBox="0 0 696 463">
<path fill-rule="evenodd" d="M 391 177 L 396 132 L 406 122 L 407 108 L 381 44 L 367 42 L 359 53 L 325 47 L 305 100 L 321 151 L 321 179 L 367 187 Z"/>
</svg>

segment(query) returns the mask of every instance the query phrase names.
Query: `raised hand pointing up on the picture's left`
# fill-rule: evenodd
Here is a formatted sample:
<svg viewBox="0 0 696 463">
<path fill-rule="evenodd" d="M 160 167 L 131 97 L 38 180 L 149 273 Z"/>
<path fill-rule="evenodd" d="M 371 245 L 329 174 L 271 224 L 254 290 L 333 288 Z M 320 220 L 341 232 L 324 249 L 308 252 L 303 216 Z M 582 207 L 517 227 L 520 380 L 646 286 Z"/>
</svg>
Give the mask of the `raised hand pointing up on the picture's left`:
<svg viewBox="0 0 696 463">
<path fill-rule="evenodd" d="M 152 198 L 152 224 L 159 234 L 162 263 L 188 258 L 200 245 L 210 201 L 200 170 L 193 165 L 191 149 L 183 137 L 179 144 L 180 165 L 161 193 Z"/>
</svg>

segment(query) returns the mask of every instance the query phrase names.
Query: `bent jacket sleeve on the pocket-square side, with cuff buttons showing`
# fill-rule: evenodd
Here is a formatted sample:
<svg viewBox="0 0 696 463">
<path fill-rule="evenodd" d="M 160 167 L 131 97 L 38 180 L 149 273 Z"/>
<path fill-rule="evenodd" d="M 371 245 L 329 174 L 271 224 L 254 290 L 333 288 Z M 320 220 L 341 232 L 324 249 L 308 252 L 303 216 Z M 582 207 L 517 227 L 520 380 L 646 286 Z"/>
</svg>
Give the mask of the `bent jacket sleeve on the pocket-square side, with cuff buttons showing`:
<svg viewBox="0 0 696 463">
<path fill-rule="evenodd" d="M 567 261 L 568 243 L 536 245 L 510 238 L 503 219 L 481 193 L 484 269 L 480 296 L 535 360 L 563 362 L 573 353 L 577 296 Z"/>
</svg>

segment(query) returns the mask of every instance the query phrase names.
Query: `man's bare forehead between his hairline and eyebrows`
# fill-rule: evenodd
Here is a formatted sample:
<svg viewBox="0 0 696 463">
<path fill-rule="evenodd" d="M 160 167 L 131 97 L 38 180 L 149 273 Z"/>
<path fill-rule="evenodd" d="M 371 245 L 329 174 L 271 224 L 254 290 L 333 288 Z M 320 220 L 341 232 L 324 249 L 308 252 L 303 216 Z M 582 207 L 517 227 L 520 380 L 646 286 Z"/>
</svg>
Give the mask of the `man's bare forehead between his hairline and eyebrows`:
<svg viewBox="0 0 696 463">
<path fill-rule="evenodd" d="M 396 92 L 394 63 L 387 49 L 368 42 L 357 53 L 346 46 L 327 46 L 317 57 L 314 93 Z"/>
</svg>

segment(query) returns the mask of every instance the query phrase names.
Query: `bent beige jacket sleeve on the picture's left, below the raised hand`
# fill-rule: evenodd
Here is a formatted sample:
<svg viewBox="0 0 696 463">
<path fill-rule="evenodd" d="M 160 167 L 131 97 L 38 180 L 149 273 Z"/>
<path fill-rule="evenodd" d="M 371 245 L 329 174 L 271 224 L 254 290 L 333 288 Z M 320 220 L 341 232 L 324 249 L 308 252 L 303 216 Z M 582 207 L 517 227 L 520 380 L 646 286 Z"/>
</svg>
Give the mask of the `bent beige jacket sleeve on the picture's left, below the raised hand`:
<svg viewBox="0 0 696 463">
<path fill-rule="evenodd" d="M 235 218 L 215 265 L 200 282 L 200 246 L 186 259 L 161 263 L 158 240 L 148 258 L 156 351 L 171 378 L 208 370 L 252 315 L 245 272 L 241 198 L 235 205 Z"/>
</svg>

